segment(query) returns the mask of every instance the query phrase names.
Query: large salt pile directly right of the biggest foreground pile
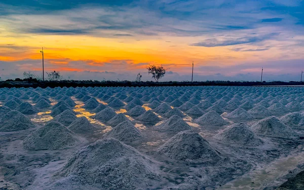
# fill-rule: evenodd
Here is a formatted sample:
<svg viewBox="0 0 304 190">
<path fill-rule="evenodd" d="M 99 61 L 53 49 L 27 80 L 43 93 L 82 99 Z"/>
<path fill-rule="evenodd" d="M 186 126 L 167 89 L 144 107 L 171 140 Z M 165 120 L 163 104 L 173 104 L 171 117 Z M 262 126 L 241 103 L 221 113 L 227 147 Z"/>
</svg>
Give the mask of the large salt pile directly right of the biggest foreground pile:
<svg viewBox="0 0 304 190">
<path fill-rule="evenodd" d="M 191 130 L 177 133 L 157 152 L 188 163 L 214 163 L 220 160 L 217 151 L 201 135 Z"/>
</svg>

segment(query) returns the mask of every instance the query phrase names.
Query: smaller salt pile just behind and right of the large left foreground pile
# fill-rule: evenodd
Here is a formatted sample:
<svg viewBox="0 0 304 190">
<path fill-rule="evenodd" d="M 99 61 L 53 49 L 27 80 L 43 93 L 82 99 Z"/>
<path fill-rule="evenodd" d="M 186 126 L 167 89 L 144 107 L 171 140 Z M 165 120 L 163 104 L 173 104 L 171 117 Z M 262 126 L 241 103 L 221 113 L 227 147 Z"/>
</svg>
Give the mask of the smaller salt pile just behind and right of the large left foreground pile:
<svg viewBox="0 0 304 190">
<path fill-rule="evenodd" d="M 68 126 L 68 129 L 74 133 L 87 133 L 94 131 L 96 128 L 86 117 L 80 117 L 73 121 L 73 123 Z"/>
</svg>

